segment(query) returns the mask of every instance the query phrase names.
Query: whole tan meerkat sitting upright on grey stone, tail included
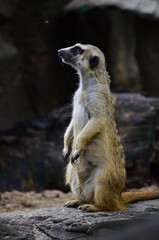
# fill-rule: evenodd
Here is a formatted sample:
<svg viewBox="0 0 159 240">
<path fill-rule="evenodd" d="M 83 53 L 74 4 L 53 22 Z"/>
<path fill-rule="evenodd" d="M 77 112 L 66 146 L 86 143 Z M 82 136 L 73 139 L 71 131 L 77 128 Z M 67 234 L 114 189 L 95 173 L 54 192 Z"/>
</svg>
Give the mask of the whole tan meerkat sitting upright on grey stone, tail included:
<svg viewBox="0 0 159 240">
<path fill-rule="evenodd" d="M 68 161 L 66 184 L 75 200 L 65 205 L 89 212 L 114 211 L 125 209 L 129 202 L 158 198 L 159 192 L 123 193 L 125 156 L 104 54 L 95 46 L 78 43 L 60 49 L 58 55 L 79 75 L 63 148 Z"/>
</svg>

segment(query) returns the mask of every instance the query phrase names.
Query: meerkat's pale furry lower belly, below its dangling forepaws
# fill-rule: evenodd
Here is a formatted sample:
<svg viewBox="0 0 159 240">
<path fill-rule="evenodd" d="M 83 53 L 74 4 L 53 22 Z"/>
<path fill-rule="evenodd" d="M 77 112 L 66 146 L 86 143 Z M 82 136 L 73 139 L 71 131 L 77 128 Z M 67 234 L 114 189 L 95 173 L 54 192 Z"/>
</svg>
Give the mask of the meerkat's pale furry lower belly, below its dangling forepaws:
<svg viewBox="0 0 159 240">
<path fill-rule="evenodd" d="M 75 196 L 84 202 L 93 203 L 96 175 L 101 164 L 106 163 L 105 153 L 101 147 L 101 137 L 97 136 L 87 146 L 84 153 L 78 159 L 76 165 L 69 163 L 69 185 Z"/>
</svg>

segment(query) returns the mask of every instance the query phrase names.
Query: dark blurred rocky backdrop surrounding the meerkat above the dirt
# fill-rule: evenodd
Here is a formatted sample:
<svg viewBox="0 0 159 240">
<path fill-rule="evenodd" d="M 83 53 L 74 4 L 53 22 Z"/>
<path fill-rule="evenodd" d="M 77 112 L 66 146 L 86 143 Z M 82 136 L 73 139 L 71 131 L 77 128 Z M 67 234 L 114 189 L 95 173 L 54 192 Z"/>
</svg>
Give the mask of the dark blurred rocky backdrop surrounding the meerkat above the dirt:
<svg viewBox="0 0 159 240">
<path fill-rule="evenodd" d="M 126 188 L 159 183 L 159 1 L 0 0 L 3 194 L 68 191 L 61 152 L 78 79 L 57 50 L 77 42 L 106 56 Z"/>
</svg>

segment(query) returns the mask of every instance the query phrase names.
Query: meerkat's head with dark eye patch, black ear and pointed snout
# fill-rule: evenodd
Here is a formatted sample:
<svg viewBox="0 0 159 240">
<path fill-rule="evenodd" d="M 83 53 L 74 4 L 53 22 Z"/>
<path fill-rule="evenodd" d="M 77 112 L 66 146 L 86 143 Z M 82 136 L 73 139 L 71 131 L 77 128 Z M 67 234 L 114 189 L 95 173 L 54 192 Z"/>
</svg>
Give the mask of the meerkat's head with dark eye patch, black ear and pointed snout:
<svg viewBox="0 0 159 240">
<path fill-rule="evenodd" d="M 58 51 L 62 62 L 71 65 L 78 71 L 94 71 L 105 66 L 104 54 L 95 46 L 77 43 L 72 47 L 62 48 Z"/>
</svg>

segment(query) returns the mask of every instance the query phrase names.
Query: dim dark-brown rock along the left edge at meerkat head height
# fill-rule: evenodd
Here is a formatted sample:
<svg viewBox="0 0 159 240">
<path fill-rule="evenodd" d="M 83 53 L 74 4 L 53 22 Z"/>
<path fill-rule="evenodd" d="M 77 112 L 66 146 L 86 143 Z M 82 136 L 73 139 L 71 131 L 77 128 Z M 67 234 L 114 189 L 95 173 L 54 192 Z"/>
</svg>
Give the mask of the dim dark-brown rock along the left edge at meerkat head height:
<svg viewBox="0 0 159 240">
<path fill-rule="evenodd" d="M 17 48 L 6 43 L 0 32 L 0 129 L 32 117 L 24 84 L 20 77 L 20 62 Z"/>
</svg>

